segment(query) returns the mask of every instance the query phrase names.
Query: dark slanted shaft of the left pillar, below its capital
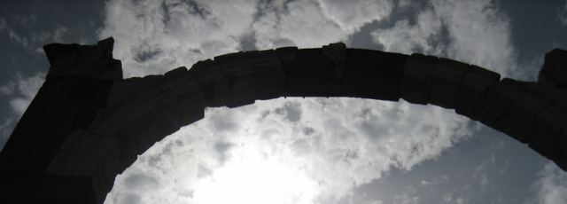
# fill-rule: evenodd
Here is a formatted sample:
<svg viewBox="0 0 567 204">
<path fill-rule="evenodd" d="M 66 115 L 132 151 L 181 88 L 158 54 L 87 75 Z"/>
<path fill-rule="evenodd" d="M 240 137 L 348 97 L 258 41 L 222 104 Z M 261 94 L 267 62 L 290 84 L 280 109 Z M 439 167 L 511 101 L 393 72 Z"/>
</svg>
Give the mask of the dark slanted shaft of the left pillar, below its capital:
<svg viewBox="0 0 567 204">
<path fill-rule="evenodd" d="M 112 84 L 84 78 L 44 82 L 0 153 L 0 175 L 43 174 L 66 136 L 76 129 L 89 128 L 98 109 L 105 106 Z"/>
</svg>

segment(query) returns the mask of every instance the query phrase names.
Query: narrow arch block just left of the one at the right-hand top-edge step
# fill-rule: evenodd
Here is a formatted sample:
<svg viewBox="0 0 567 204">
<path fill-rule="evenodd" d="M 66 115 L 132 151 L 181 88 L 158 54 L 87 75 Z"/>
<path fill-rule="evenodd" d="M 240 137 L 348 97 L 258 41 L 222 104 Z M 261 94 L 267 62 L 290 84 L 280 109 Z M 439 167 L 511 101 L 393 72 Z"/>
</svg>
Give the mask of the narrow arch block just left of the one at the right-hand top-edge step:
<svg viewBox="0 0 567 204">
<path fill-rule="evenodd" d="M 453 109 L 459 83 L 469 67 L 468 64 L 453 59 L 439 58 L 431 76 L 429 103 Z"/>
</svg>

